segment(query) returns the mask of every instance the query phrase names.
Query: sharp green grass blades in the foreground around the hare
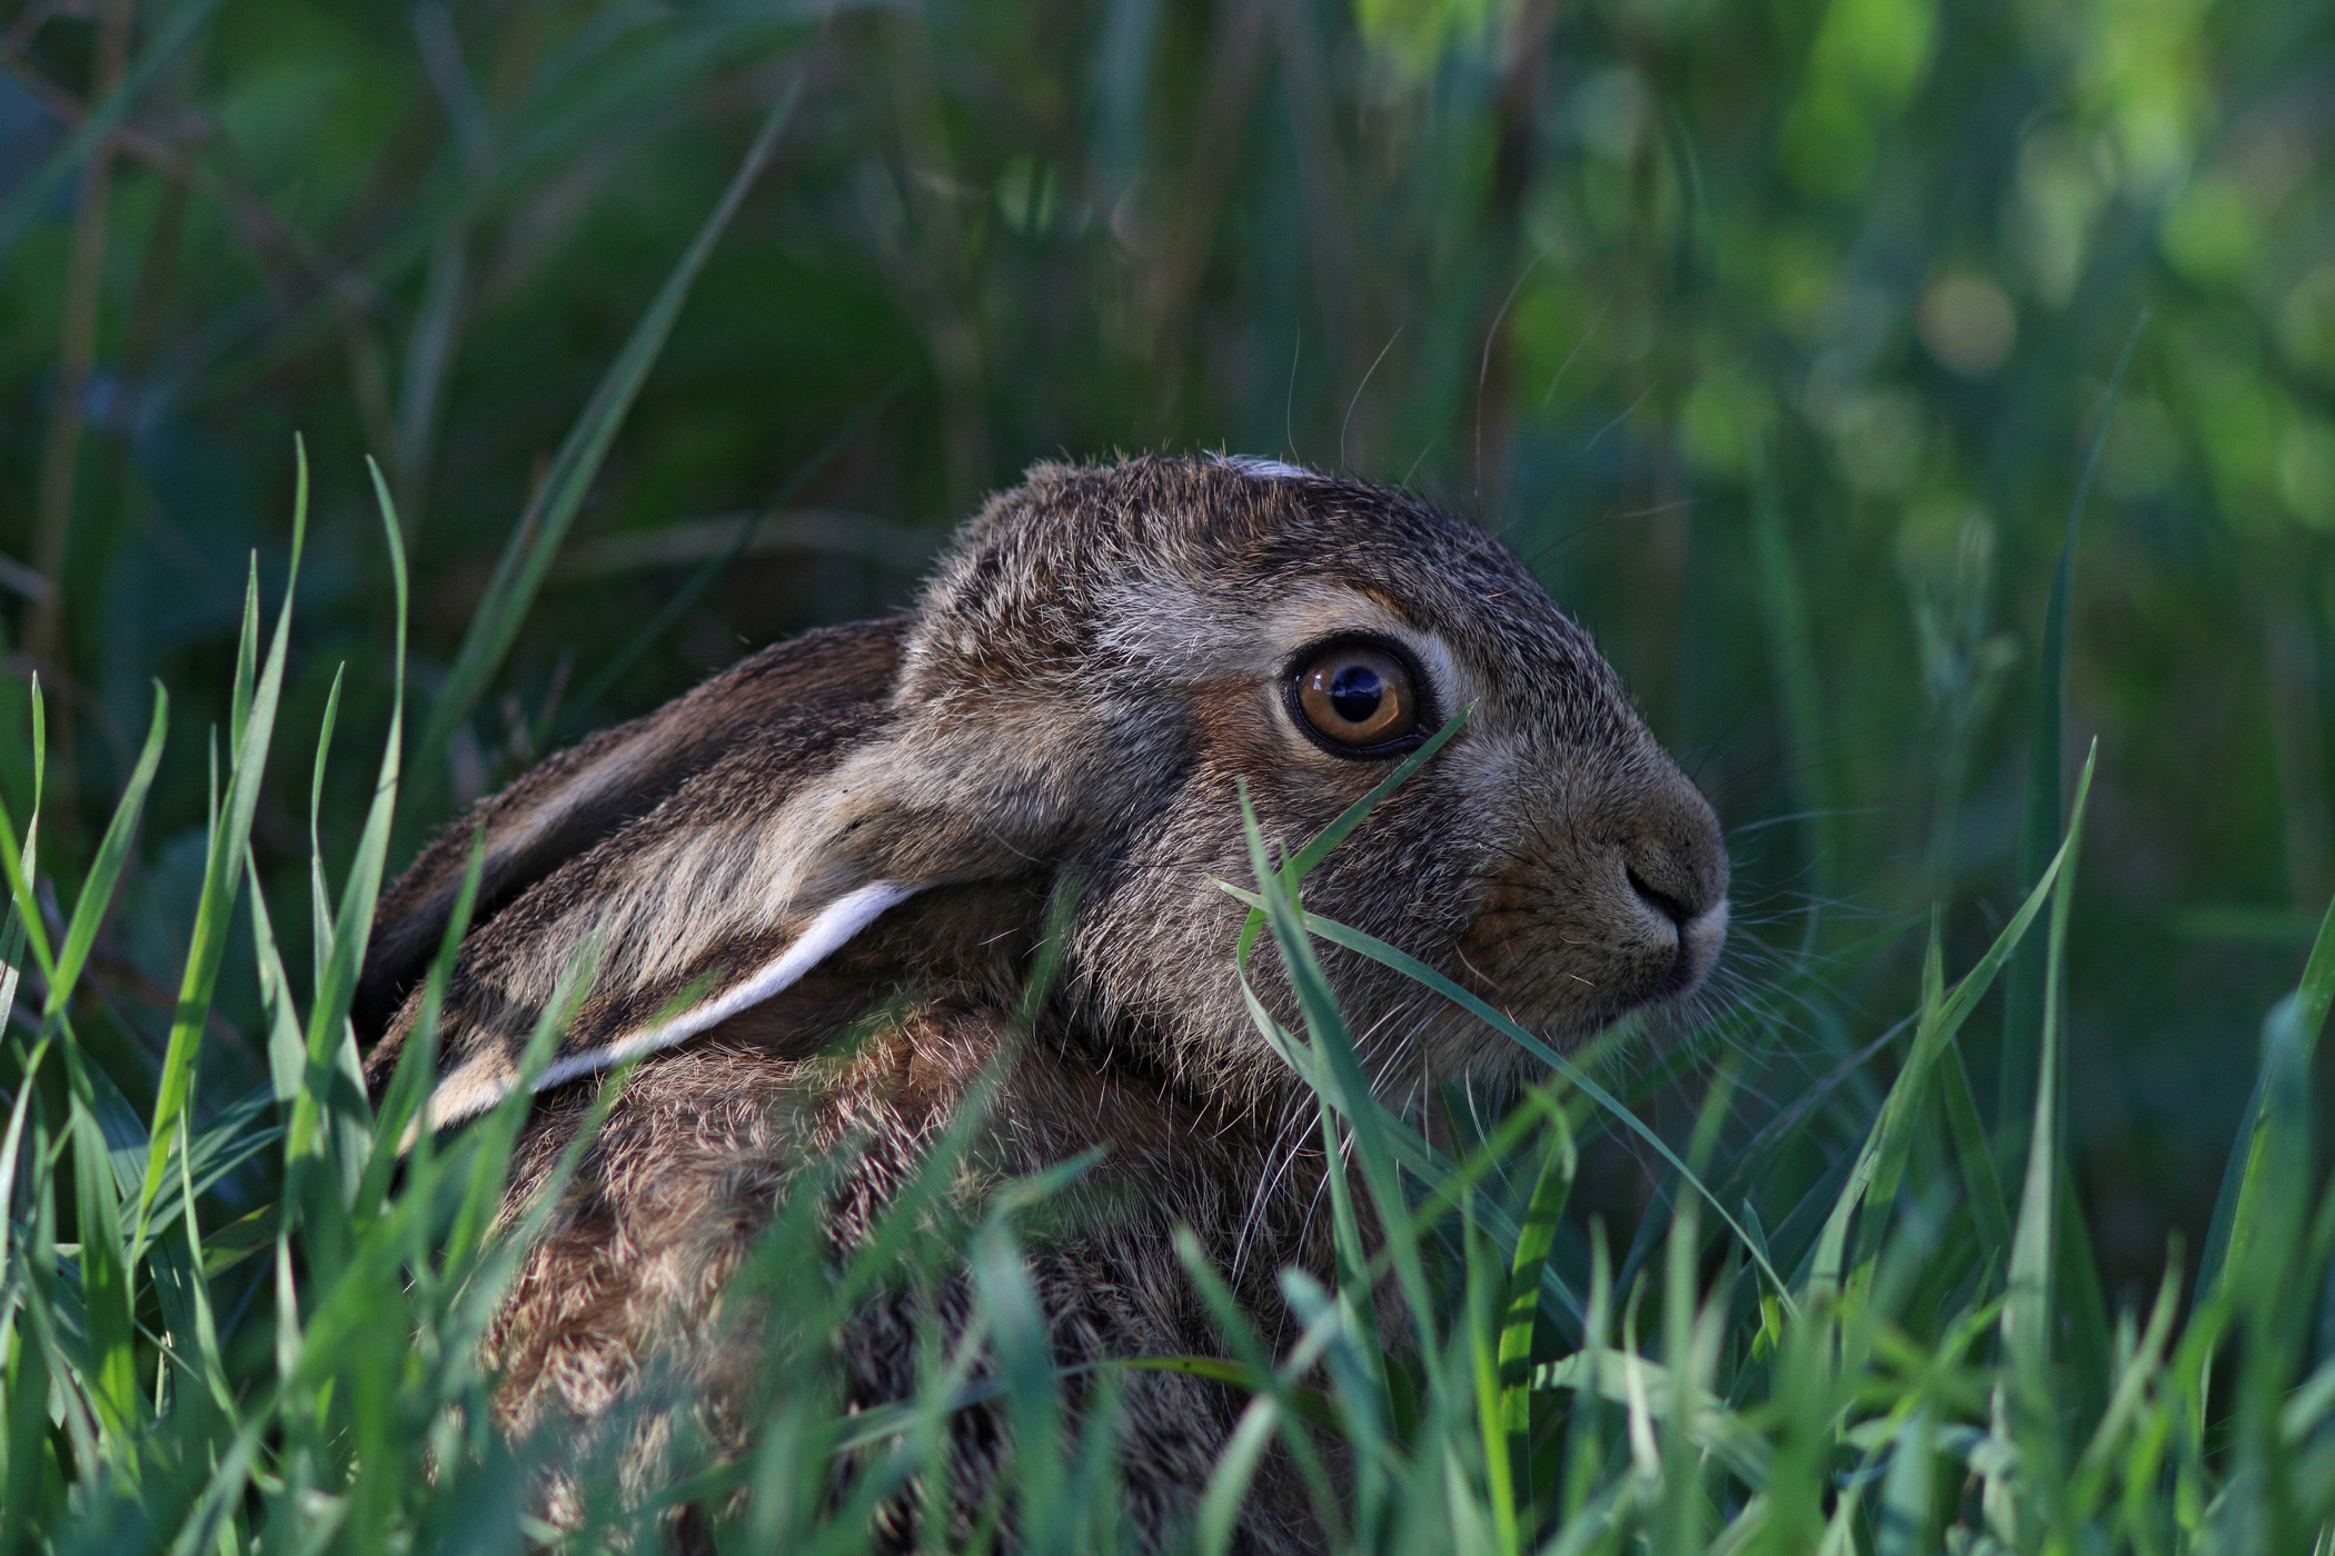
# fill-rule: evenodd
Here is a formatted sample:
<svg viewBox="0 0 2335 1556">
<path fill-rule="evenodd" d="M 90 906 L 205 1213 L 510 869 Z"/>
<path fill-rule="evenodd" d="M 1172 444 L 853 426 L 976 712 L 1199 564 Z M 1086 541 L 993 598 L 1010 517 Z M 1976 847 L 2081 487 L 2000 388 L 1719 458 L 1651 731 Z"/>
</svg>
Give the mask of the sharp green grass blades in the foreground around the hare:
<svg viewBox="0 0 2335 1556">
<path fill-rule="evenodd" d="M 402 579 L 395 509 L 376 490 Z M 591 1129 L 551 1190 L 497 1227 L 525 1094 L 453 1136 L 420 1136 L 402 1162 L 432 1043 L 409 1047 L 378 1110 L 364 1096 L 343 1017 L 399 800 L 397 719 L 339 893 L 325 856 L 313 861 L 306 1008 L 271 931 L 290 905 L 243 886 L 271 1085 L 191 1106 L 222 926 L 248 875 L 250 793 L 278 737 L 290 632 L 287 595 L 262 646 L 255 595 L 187 984 L 152 1108 L 133 1108 L 82 1040 L 77 991 L 163 756 L 161 693 L 61 933 L 33 891 L 40 800 L 21 821 L 0 816 L 12 903 L 0 1017 L 14 1015 L 28 1036 L 9 1047 L 0 1145 L 0 1197 L 12 1206 L 0 1285 L 7 1547 L 640 1549 L 661 1537 L 663 1509 L 693 1502 L 719 1514 L 724 1547 L 866 1549 L 871 1509 L 932 1495 L 946 1423 L 978 1402 L 1002 1407 L 1013 1446 L 976 1544 L 1004 1528 L 1032 1551 L 1123 1544 L 1111 1491 L 1118 1386 L 1086 1379 L 1086 1409 L 1067 1407 L 1020 1260 L 1025 1215 L 1088 1162 L 934 1215 L 976 1117 L 824 1288 L 806 1297 L 789 1278 L 782 1302 L 752 1302 L 785 1271 L 829 1257 L 810 1211 L 820 1176 L 780 1208 L 729 1306 L 764 1313 L 759 1339 L 773 1358 L 747 1456 L 708 1458 L 682 1432 L 665 1488 L 628 1498 L 609 1446 L 621 1423 L 588 1444 L 509 1442 L 488 1423 L 483 1325 Z M 329 737 L 327 716 L 320 770 Z M 1303 1323 L 1282 1355 L 1186 1243 L 1224 1360 L 1121 1362 L 1198 1369 L 1249 1400 L 1191 1549 L 1231 1549 L 1233 1514 L 1275 1439 L 1305 1467 L 1338 1551 L 2172 1554 L 2302 1551 L 2330 1537 L 2335 1360 L 2323 1358 L 2321 1290 L 2335 1183 L 2314 1155 L 2312 1064 L 2335 998 L 2335 914 L 2298 991 L 2265 1022 L 2256 1101 L 2230 1150 L 2195 1295 L 2183 1302 L 2174 1267 L 2146 1304 L 2102 1313 L 2085 1222 L 2071 1213 L 2059 1096 L 2064 952 L 2092 775 L 2087 761 L 2057 851 L 1985 954 L 1950 975 L 1931 935 L 1919 1005 L 1891 1026 L 1896 1078 L 1861 1113 L 1840 1171 L 1805 1190 L 1775 1171 L 1782 1134 L 1728 1127 L 1742 1047 L 1714 1050 L 1714 1033 L 1688 1040 L 1719 1059 L 1681 1155 L 1611 1089 L 1627 1087 L 1627 1073 L 1599 1080 L 1592 1071 L 1611 1064 L 1585 1071 L 1401 952 L 1305 914 L 1305 872 L 1378 795 L 1284 865 L 1252 823 L 1254 891 L 1228 889 L 1254 912 L 1226 947 L 1226 975 L 1242 977 L 1259 954 L 1291 970 L 1301 1026 L 1252 1001 L 1259 1038 L 1315 1089 L 1324 1150 L 1354 1171 L 1331 1180 L 1336 1278 L 1282 1276 Z M 430 998 L 465 919 L 467 905 Z M 1457 1155 L 1438 1150 L 1364 1085 L 1317 938 L 1459 1001 L 1548 1064 L 1548 1078 L 1490 1134 L 1464 1138 Z M 2027 947 L 2041 949 L 2045 1001 L 2031 1115 L 2024 1129 L 1996 1120 L 1989 1131 L 1961 1038 Z M 16 982 L 14 968 L 30 977 Z M 572 987 L 586 980 L 577 968 Z M 537 1061 L 558 1010 L 546 1012 Z M 602 1106 L 623 1082 L 605 1087 Z M 1642 1229 L 1618 1264 L 1604 1222 L 1592 1222 L 1583 1264 L 1560 1248 L 1562 1206 L 1583 1143 L 1613 1131 L 1637 1131 L 1667 1162 L 1667 1215 L 1646 1222 L 1658 1248 Z M 222 1192 L 252 1169 L 264 1190 Z M 238 1199 L 248 1208 L 229 1213 Z M 1387 1229 L 1380 1243 L 1364 1241 L 1366 1220 Z M 934 1337 L 918 1397 L 843 1414 L 822 1337 L 871 1288 L 939 1267 L 971 1271 L 969 1327 L 955 1346 Z M 1378 1334 L 1371 1295 L 1389 1281 L 1410 1344 Z M 668 1404 L 651 1367 L 623 1409 Z M 1324 1463 L 1331 1449 L 1338 1472 Z M 862 1472 L 838 1481 L 841 1460 Z M 535 1521 L 551 1465 L 581 1488 L 572 1528 Z"/>
</svg>

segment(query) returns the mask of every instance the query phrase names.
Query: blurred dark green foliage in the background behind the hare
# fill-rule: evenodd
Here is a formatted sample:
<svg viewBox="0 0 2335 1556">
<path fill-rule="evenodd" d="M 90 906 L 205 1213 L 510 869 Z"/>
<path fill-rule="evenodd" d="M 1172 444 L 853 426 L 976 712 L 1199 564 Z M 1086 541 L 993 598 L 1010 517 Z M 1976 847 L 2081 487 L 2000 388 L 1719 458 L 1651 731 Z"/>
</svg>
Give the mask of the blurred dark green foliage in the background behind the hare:
<svg viewBox="0 0 2335 1556">
<path fill-rule="evenodd" d="M 2071 744 L 2102 756 L 2071 1124 L 2113 1278 L 2167 1227 L 2195 1246 L 2258 1012 L 2335 886 L 2335 12 L 2277 0 L 14 5 L 0 793 L 26 814 L 37 670 L 42 865 L 75 879 L 149 679 L 180 691 L 93 961 L 140 1106 L 201 886 L 191 754 L 229 714 L 203 688 L 234 679 L 248 553 L 280 590 L 292 434 L 318 511 L 283 719 L 315 728 L 346 660 L 369 751 L 362 457 L 413 553 L 427 716 L 532 485 L 796 86 L 406 826 L 899 604 L 1030 460 L 1282 455 L 1539 565 L 1735 828 L 1733 991 L 1831 1068 L 1912 1003 L 1931 903 L 1966 966 L 2022 896 L 2043 590 L 2146 310 L 2076 567 Z M 58 161 L 107 100 L 110 152 Z M 327 856 L 369 784 L 325 775 Z M 306 872 L 306 800 L 273 775 L 266 872 Z M 248 1085 L 257 989 L 222 1001 L 210 1061 Z"/>
</svg>

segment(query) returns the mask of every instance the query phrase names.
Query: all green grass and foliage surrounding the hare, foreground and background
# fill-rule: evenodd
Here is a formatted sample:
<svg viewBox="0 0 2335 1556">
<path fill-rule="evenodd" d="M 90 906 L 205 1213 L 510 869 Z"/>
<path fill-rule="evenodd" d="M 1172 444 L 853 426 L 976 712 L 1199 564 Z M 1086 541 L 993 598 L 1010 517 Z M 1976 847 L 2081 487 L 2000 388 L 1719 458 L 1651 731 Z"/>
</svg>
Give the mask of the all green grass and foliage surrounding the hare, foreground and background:
<svg viewBox="0 0 2335 1556">
<path fill-rule="evenodd" d="M 546 1535 L 577 1449 L 490 1432 L 474 1346 L 516 1124 L 392 1171 L 425 1075 L 355 1082 L 383 870 L 894 607 L 1025 462 L 1224 446 L 1497 525 L 1716 798 L 1740 912 L 1695 1031 L 1438 1155 L 1303 973 L 1382 947 L 1303 917 L 1310 856 L 1235 882 L 1224 975 L 1301 966 L 1261 1040 L 1399 1234 L 1294 1292 L 1296 1358 L 1193 1269 L 1252 1400 L 1196 1540 L 1303 1421 L 1345 1549 L 2312 1547 L 2328 58 L 2267 2 L 7 9 L 0 1544 Z M 1051 1187 L 775 1309 L 754 1456 L 684 1442 L 675 1495 L 852 1549 L 983 1393 L 1023 1537 L 1107 1549 L 1107 1404 L 1016 1262 Z M 841 1416 L 820 1337 L 936 1264 L 995 1372 Z"/>
</svg>

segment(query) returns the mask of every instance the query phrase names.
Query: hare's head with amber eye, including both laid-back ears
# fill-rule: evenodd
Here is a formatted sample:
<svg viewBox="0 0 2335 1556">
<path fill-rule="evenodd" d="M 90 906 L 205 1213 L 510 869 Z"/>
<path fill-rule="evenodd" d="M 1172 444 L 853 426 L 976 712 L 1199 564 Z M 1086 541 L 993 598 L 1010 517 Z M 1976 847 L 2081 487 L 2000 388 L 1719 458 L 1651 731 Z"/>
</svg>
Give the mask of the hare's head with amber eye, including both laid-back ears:
<svg viewBox="0 0 2335 1556">
<path fill-rule="evenodd" d="M 808 1052 L 887 989 L 1011 1010 L 1048 910 L 1051 1026 L 1263 1106 L 1291 1075 L 1231 977 L 1240 795 L 1294 849 L 1452 721 L 1308 877 L 1308 907 L 1560 1045 L 1693 989 L 1728 921 L 1712 807 L 1497 539 L 1284 464 L 1037 467 L 908 618 L 754 656 L 434 844 L 383 905 L 364 998 L 397 1015 L 369 1068 L 413 1026 L 479 840 L 434 1124 L 518 1085 L 586 947 L 591 989 L 537 1087 L 754 1019 Z M 1389 1101 L 1520 1068 L 1378 963 L 1324 966 Z"/>
</svg>

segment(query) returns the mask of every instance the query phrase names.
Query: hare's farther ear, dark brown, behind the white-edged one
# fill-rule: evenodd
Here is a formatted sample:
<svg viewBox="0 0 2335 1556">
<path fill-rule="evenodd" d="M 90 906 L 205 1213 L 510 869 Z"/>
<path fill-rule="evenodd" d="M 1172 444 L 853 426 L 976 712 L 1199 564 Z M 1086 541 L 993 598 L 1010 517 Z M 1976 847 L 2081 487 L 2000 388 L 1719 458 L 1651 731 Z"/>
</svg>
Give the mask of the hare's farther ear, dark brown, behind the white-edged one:
<svg viewBox="0 0 2335 1556">
<path fill-rule="evenodd" d="M 656 809 L 747 733 L 799 707 L 876 702 L 899 672 L 901 621 L 862 621 L 764 649 L 654 714 L 546 758 L 481 800 L 381 896 L 353 1019 L 378 1036 L 420 982 L 483 849 L 474 926 Z"/>
</svg>

